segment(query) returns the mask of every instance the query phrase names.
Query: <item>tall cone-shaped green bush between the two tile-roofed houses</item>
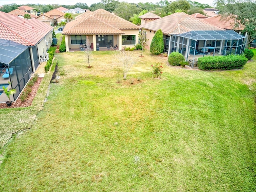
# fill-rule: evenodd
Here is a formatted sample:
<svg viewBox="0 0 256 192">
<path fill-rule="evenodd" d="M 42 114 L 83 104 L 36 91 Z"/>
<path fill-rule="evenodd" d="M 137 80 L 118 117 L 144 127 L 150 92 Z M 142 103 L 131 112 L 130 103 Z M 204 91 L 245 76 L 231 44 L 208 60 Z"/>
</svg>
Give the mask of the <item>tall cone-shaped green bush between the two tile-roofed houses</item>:
<svg viewBox="0 0 256 192">
<path fill-rule="evenodd" d="M 164 50 L 164 38 L 162 30 L 158 30 L 154 37 L 152 38 L 152 42 L 150 44 L 150 52 L 154 55 L 159 55 Z"/>
</svg>

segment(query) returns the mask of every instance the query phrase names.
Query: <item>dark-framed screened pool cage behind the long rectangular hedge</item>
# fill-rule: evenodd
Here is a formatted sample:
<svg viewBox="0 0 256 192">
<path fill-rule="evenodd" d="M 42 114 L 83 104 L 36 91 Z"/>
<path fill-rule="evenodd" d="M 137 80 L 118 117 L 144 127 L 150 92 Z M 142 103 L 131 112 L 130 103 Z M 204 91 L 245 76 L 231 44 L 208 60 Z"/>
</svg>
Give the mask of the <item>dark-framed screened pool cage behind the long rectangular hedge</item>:
<svg viewBox="0 0 256 192">
<path fill-rule="evenodd" d="M 180 52 L 189 62 L 190 67 L 197 66 L 197 59 L 202 56 L 220 56 L 242 54 L 246 37 L 233 30 L 190 31 L 172 35 L 168 52 Z"/>
</svg>

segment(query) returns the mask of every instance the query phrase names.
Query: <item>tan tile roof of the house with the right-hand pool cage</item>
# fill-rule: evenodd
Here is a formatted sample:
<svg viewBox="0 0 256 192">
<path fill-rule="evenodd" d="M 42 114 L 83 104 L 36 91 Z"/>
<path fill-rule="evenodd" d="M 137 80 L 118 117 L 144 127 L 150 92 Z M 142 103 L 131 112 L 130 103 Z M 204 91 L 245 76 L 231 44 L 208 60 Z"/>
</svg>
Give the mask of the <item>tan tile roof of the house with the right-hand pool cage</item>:
<svg viewBox="0 0 256 192">
<path fill-rule="evenodd" d="M 183 12 L 162 17 L 141 27 L 153 31 L 161 29 L 164 34 L 182 34 L 192 30 L 224 30 Z"/>
</svg>

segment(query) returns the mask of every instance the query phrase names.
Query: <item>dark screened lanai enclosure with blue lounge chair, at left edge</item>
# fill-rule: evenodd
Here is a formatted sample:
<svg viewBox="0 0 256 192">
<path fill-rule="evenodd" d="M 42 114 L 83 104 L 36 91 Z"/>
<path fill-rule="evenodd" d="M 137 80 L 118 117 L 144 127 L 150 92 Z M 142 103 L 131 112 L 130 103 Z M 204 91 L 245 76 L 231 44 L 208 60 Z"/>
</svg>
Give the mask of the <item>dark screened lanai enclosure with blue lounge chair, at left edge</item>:
<svg viewBox="0 0 256 192">
<path fill-rule="evenodd" d="M 0 102 L 8 101 L 3 93 L 3 86 L 8 90 L 16 89 L 16 94 L 10 96 L 10 100 L 15 101 L 31 74 L 29 47 L 0 39 Z"/>
</svg>

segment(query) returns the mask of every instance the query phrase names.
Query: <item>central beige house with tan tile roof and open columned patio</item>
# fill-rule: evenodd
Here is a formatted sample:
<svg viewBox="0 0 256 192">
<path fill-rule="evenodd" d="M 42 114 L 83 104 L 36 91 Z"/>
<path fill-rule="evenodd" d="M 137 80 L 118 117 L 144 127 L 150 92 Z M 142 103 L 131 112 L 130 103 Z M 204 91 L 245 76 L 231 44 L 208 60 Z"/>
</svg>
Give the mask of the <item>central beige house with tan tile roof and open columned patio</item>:
<svg viewBox="0 0 256 192">
<path fill-rule="evenodd" d="M 140 29 L 115 14 L 98 9 L 68 22 L 62 34 L 65 35 L 66 51 L 79 49 L 80 44 L 85 44 L 86 36 L 94 51 L 109 45 L 117 45 L 122 50 L 124 46 L 133 47 L 138 43 Z"/>
</svg>

